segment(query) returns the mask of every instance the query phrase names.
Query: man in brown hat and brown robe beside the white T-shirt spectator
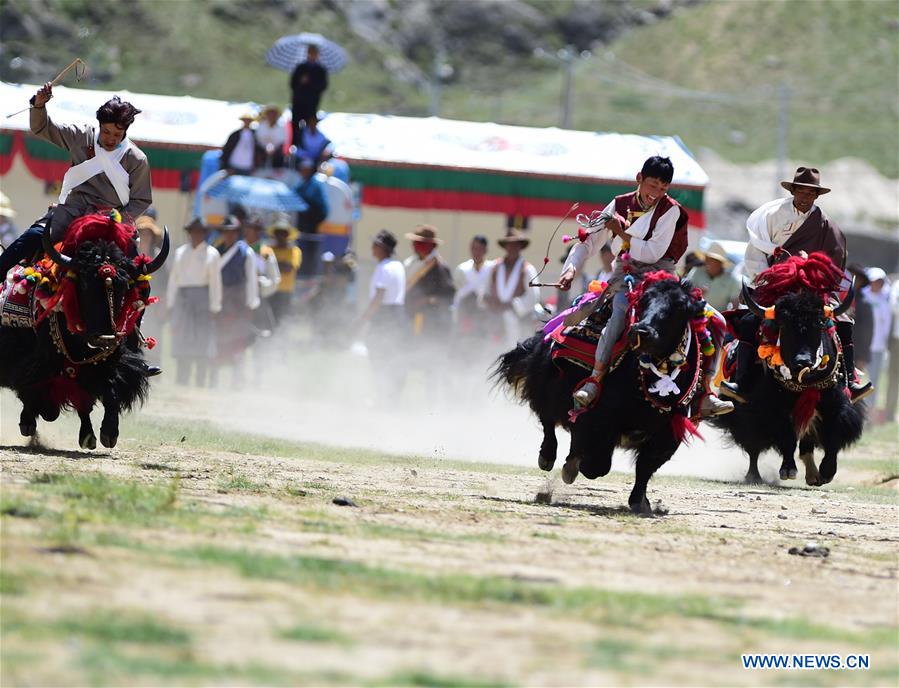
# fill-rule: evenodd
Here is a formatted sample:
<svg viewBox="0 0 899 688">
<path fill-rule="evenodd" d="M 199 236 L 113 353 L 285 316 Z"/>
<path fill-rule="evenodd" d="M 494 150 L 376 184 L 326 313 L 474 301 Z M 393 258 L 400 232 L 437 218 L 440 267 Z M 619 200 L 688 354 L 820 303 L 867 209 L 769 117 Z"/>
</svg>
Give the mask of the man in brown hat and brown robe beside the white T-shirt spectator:
<svg viewBox="0 0 899 688">
<path fill-rule="evenodd" d="M 439 253 L 443 243 L 437 228 L 418 225 L 406 234 L 413 254 L 406 258 L 406 311 L 412 319 L 413 334 L 434 341 L 446 341 L 452 327 L 453 273 Z"/>
</svg>

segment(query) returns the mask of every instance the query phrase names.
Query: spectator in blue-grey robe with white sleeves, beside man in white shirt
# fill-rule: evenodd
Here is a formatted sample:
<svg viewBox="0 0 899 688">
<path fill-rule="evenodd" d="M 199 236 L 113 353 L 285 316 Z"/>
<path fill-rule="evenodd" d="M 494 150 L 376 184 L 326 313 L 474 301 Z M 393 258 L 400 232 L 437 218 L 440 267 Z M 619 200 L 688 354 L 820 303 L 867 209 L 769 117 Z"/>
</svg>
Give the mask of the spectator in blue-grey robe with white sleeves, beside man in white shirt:
<svg viewBox="0 0 899 688">
<path fill-rule="evenodd" d="M 218 382 L 222 366 L 232 369 L 231 385 L 240 389 L 244 382 L 243 352 L 253 343 L 253 311 L 259 308 L 259 281 L 256 255 L 240 238 L 240 222 L 225 218 L 219 227 L 217 247 L 222 256 L 222 314 L 218 319 L 218 366 L 213 369 L 212 385 Z"/>
</svg>

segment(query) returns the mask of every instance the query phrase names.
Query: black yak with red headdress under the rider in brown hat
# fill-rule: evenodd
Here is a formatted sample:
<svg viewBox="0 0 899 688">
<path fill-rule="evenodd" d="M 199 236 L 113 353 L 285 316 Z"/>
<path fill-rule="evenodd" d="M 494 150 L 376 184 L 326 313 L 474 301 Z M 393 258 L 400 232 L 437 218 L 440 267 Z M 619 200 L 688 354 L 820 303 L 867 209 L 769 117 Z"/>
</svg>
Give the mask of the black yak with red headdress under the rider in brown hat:
<svg viewBox="0 0 899 688">
<path fill-rule="evenodd" d="M 841 279 L 842 273 L 824 254 L 791 257 L 762 272 L 755 291 L 743 285 L 743 302 L 751 315 L 745 310 L 728 314 L 731 323 L 743 330 L 738 332 L 744 339 L 739 346 L 757 346 L 751 341 L 756 331 L 763 337 L 757 348 L 764 358 L 741 373 L 744 403 L 711 421 L 749 456 L 747 482 L 762 482 L 758 459 L 768 449 L 781 455 L 780 479 L 794 479 L 798 444 L 806 483 L 824 485 L 836 475 L 839 452 L 861 437 L 864 407 L 850 401 L 834 327 L 852 303 L 854 283 L 837 305 L 825 301 Z M 759 305 L 756 299 L 769 305 Z M 737 314 L 741 315 L 735 321 Z M 819 467 L 816 447 L 824 450 Z"/>
</svg>

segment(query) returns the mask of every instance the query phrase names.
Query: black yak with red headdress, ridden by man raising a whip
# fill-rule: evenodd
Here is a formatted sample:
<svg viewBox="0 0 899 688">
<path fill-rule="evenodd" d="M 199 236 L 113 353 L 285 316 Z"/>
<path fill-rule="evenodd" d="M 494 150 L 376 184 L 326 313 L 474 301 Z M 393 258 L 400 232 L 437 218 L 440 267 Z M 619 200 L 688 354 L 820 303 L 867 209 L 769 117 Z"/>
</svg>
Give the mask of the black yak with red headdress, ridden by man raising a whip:
<svg viewBox="0 0 899 688">
<path fill-rule="evenodd" d="M 152 303 L 149 276 L 168 256 L 169 235 L 166 229 L 152 260 L 127 256 L 132 236 L 115 215 L 86 215 L 69 227 L 61 249 L 45 232 L 46 258 L 6 283 L 7 292 L 17 290 L 26 299 L 28 313 L 28 322 L 7 317 L 0 324 L 0 387 L 22 402 L 23 436 L 35 435 L 38 416 L 52 422 L 71 408 L 81 420 L 79 445 L 95 449 L 90 413 L 99 400 L 100 442 L 114 447 L 120 413 L 144 401 L 148 370 L 136 325 Z M 12 295 L 4 296 L 5 306 Z"/>
</svg>

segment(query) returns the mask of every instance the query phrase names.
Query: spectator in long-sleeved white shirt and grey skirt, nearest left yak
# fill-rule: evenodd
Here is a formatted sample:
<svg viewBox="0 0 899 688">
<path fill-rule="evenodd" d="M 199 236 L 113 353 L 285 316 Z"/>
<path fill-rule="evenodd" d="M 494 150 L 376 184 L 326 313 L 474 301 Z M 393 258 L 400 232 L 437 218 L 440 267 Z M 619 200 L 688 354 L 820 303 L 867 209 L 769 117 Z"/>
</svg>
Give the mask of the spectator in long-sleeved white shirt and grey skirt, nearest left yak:
<svg viewBox="0 0 899 688">
<path fill-rule="evenodd" d="M 175 382 L 189 385 L 195 367 L 196 384 L 204 387 L 209 363 L 216 355 L 214 317 L 222 310 L 221 259 L 207 243 L 208 229 L 201 219 L 192 220 L 184 230 L 188 243 L 175 251 L 166 292 L 177 364 Z"/>
</svg>

